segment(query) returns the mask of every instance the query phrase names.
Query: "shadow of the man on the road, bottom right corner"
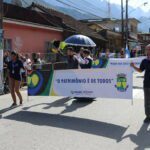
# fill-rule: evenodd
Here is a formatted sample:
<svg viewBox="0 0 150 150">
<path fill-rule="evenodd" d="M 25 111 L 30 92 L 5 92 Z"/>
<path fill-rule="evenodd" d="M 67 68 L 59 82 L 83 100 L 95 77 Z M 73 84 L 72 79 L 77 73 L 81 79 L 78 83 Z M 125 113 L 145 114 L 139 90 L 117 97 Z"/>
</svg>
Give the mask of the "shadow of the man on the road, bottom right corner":
<svg viewBox="0 0 150 150">
<path fill-rule="evenodd" d="M 149 124 L 143 124 L 137 135 L 130 134 L 122 138 L 130 138 L 138 147 L 135 150 L 150 149 L 150 130 L 148 131 Z"/>
</svg>

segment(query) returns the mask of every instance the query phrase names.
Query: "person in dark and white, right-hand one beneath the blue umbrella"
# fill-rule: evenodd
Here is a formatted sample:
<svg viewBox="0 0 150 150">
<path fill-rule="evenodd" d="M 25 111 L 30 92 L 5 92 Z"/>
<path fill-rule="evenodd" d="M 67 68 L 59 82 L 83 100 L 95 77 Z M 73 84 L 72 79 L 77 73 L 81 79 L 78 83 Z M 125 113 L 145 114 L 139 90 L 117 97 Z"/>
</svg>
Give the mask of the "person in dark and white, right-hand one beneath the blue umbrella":
<svg viewBox="0 0 150 150">
<path fill-rule="evenodd" d="M 92 68 L 92 58 L 90 57 L 90 51 L 84 50 L 83 51 L 84 63 L 80 64 L 82 69 L 90 69 Z"/>
</svg>

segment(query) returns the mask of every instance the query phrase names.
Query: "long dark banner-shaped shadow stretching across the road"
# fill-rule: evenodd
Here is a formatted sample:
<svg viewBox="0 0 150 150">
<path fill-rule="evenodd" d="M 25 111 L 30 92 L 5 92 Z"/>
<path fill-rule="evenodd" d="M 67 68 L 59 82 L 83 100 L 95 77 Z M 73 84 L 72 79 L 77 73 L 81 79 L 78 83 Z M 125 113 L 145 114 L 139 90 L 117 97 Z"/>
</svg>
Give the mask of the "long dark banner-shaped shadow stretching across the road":
<svg viewBox="0 0 150 150">
<path fill-rule="evenodd" d="M 62 115 L 21 111 L 5 117 L 5 119 L 30 123 L 37 126 L 51 126 L 83 132 L 87 134 L 103 136 L 119 141 L 125 133 L 125 127 L 104 123 L 100 121 L 76 118 Z"/>
</svg>

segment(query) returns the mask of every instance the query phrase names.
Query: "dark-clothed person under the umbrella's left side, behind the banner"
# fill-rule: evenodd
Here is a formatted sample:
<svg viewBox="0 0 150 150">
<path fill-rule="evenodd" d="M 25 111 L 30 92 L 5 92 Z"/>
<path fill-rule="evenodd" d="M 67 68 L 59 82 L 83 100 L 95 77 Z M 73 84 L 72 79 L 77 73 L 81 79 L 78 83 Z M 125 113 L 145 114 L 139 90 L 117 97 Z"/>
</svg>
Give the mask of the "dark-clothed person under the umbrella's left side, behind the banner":
<svg viewBox="0 0 150 150">
<path fill-rule="evenodd" d="M 75 52 L 72 47 L 69 47 L 67 50 L 67 56 L 68 56 L 68 64 L 67 69 L 78 69 L 79 63 L 77 58 L 75 57 Z"/>
</svg>

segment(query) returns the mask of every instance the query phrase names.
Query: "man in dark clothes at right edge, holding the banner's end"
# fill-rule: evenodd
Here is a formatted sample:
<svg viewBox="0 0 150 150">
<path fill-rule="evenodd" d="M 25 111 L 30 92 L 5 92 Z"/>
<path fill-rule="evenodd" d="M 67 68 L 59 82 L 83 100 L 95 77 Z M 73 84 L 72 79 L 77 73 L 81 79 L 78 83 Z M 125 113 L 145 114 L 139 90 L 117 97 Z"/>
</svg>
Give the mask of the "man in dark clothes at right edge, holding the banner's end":
<svg viewBox="0 0 150 150">
<path fill-rule="evenodd" d="M 131 66 L 138 72 L 145 71 L 144 75 L 144 99 L 145 99 L 145 123 L 150 123 L 150 44 L 146 47 L 147 58 L 144 59 L 140 68 L 136 67 L 134 63 Z"/>
</svg>

